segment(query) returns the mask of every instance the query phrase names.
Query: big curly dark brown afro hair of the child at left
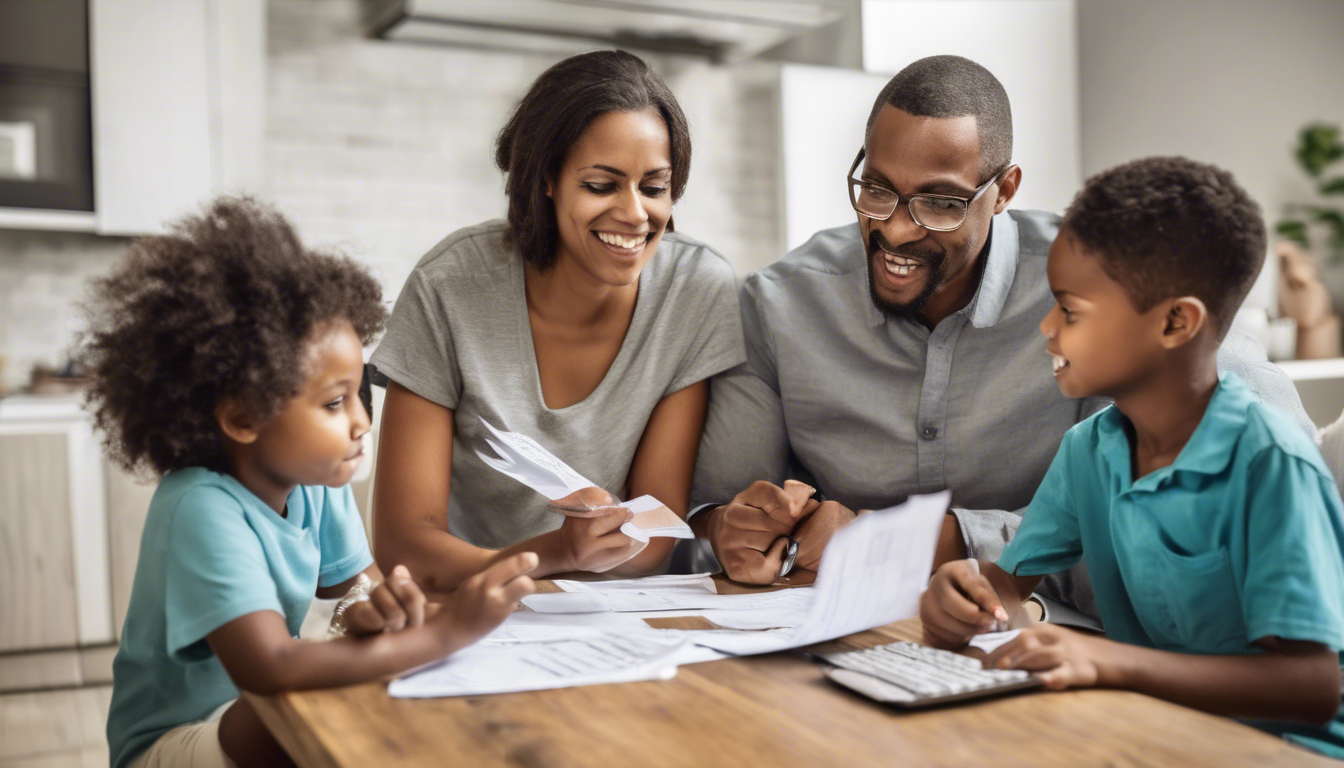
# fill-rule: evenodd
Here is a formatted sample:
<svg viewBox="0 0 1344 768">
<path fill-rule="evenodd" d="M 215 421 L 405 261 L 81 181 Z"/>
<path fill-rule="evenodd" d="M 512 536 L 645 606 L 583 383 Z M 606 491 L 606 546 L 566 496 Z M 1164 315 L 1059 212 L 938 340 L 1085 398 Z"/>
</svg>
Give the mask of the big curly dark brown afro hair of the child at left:
<svg viewBox="0 0 1344 768">
<path fill-rule="evenodd" d="M 138 238 L 93 285 L 81 356 L 110 457 L 129 471 L 224 471 L 215 409 L 262 422 L 305 383 L 305 347 L 348 320 L 368 344 L 387 320 L 378 282 L 308 250 L 274 210 L 223 198 L 169 234 Z"/>
</svg>

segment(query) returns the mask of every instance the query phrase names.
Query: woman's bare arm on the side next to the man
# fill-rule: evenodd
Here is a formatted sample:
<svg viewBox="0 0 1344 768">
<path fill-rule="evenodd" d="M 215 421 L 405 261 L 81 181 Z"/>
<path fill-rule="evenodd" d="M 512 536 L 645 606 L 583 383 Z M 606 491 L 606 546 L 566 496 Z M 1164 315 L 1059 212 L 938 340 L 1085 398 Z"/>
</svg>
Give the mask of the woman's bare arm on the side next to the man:
<svg viewBox="0 0 1344 768">
<path fill-rule="evenodd" d="M 704 413 L 710 404 L 710 383 L 696 382 L 680 389 L 653 408 L 644 436 L 630 461 L 630 498 L 645 494 L 667 504 L 685 519 L 691 507 L 691 477 L 695 473 L 695 455 L 704 430 Z M 663 565 L 672 554 L 675 538 L 649 539 L 644 551 L 632 557 L 612 573 L 642 576 Z"/>
</svg>

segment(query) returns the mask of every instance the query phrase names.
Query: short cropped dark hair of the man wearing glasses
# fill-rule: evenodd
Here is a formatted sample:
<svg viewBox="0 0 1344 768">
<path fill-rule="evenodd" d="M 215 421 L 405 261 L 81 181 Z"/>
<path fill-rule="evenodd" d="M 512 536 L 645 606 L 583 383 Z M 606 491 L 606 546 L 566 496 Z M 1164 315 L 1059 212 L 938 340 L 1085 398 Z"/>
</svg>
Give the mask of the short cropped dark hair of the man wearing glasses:
<svg viewBox="0 0 1344 768">
<path fill-rule="evenodd" d="M 1012 161 L 1012 108 L 1008 91 L 976 62 L 953 55 L 927 56 L 896 73 L 878 94 L 867 133 L 886 105 L 915 117 L 973 114 L 980 130 L 981 182 Z"/>
</svg>

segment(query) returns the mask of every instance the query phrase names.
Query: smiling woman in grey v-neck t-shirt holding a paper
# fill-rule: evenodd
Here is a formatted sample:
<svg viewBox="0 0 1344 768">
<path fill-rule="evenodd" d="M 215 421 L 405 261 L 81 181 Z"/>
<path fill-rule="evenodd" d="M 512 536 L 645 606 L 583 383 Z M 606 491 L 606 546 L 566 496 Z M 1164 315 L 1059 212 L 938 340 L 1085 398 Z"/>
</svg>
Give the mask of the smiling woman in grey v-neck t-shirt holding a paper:
<svg viewBox="0 0 1344 768">
<path fill-rule="evenodd" d="M 374 364 L 391 383 L 374 494 L 376 554 L 430 590 L 519 551 L 534 576 L 641 574 L 672 550 L 620 533 L 629 512 L 560 516 L 487 467 L 482 421 L 527 434 L 613 496 L 685 516 L 706 379 L 745 359 L 732 270 L 672 234 L 685 116 L 637 56 L 546 73 L 499 135 L 508 221 L 421 260 Z M 452 468 L 452 472 L 449 472 Z"/>
</svg>

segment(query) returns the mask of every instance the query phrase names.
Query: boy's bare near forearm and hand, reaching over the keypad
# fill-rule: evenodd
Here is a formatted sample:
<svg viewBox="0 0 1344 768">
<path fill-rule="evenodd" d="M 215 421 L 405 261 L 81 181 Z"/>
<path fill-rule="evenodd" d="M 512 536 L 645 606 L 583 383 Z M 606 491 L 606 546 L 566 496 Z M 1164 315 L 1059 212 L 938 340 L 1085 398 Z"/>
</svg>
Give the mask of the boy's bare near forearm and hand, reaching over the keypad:
<svg viewBox="0 0 1344 768">
<path fill-rule="evenodd" d="M 1320 643 L 1265 638 L 1262 654 L 1206 656 L 1126 646 L 1040 624 L 986 667 L 1031 670 L 1052 689 L 1134 690 L 1227 717 L 1321 724 L 1340 706 L 1339 655 Z"/>
</svg>

